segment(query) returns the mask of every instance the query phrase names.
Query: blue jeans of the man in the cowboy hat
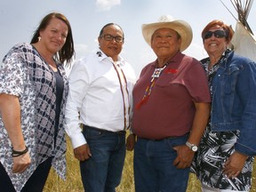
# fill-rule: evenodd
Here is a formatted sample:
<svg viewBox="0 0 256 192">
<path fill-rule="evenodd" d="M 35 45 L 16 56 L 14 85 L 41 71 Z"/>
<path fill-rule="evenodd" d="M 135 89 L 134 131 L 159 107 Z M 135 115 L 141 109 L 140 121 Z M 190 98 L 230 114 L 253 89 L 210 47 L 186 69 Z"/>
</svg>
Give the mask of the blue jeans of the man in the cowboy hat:
<svg viewBox="0 0 256 192">
<path fill-rule="evenodd" d="M 136 192 L 186 192 L 189 168 L 177 169 L 174 146 L 183 145 L 188 136 L 175 139 L 145 140 L 138 138 L 134 148 Z"/>
</svg>

